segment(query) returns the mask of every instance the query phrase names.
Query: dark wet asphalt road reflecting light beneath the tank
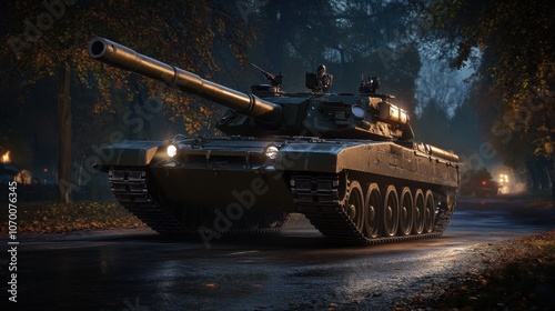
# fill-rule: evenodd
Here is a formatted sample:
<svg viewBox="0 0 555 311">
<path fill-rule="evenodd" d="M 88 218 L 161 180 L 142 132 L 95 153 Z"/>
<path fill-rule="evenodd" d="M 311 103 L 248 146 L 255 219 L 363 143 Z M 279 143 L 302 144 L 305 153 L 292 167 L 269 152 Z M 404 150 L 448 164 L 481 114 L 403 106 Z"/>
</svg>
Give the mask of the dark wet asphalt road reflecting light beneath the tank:
<svg viewBox="0 0 555 311">
<path fill-rule="evenodd" d="M 301 215 L 278 237 L 216 241 L 210 250 L 150 230 L 28 237 L 18 247 L 18 303 L 3 290 L 0 305 L 393 310 L 402 298 L 448 275 L 481 243 L 552 229 L 554 210 L 519 199 L 462 198 L 442 238 L 365 248 L 332 245 Z M 0 275 L 6 287 L 6 264 Z"/>
</svg>

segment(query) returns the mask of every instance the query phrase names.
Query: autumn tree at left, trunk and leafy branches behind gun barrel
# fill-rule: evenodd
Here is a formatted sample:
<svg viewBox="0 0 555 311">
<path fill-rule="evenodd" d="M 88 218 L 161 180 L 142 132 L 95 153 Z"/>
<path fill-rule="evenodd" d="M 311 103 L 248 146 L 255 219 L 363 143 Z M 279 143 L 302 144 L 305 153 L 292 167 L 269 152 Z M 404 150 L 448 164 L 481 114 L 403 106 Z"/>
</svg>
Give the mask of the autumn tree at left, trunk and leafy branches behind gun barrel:
<svg viewBox="0 0 555 311">
<path fill-rule="evenodd" d="M 189 98 L 169 88 L 142 78 L 129 83 L 129 73 L 91 61 L 88 40 L 105 36 L 206 77 L 219 70 L 211 53 L 215 46 L 229 46 L 244 62 L 250 42 L 250 32 L 240 21 L 210 1 L 16 0 L 2 3 L 1 12 L 7 44 L 0 50 L 0 63 L 7 80 L 22 84 L 27 92 L 46 79 L 58 81 L 58 94 L 52 97 L 58 99 L 58 183 L 64 202 L 71 200 L 72 185 L 72 92 L 94 88 L 95 111 L 112 110 L 118 94 L 124 93 L 131 102 L 144 93 L 157 94 L 178 117 L 188 119 L 191 131 L 210 116 L 210 110 L 192 110 Z"/>
</svg>

